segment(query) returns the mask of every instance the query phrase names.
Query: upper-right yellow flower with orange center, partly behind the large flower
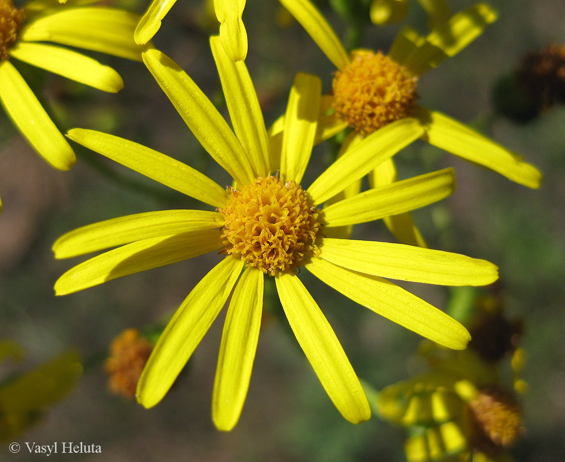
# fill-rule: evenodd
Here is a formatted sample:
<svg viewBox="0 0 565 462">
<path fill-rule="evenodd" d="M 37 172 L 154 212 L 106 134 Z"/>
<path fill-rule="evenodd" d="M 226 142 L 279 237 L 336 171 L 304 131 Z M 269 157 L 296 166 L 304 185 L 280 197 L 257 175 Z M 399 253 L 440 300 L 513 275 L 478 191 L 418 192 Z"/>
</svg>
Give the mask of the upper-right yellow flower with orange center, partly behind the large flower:
<svg viewBox="0 0 565 462">
<path fill-rule="evenodd" d="M 337 67 L 333 94 L 328 95 L 320 117 L 320 140 L 353 127 L 364 137 L 396 120 L 415 116 L 421 138 L 472 163 L 483 165 L 529 188 L 538 188 L 541 173 L 497 143 L 457 120 L 416 104 L 418 77 L 457 54 L 481 34 L 497 15 L 485 3 L 468 8 L 438 25 L 427 37 L 403 29 L 389 51 L 354 50 L 347 56 L 331 26 L 308 0 L 280 0 Z M 271 129 L 275 135 L 282 122 Z"/>
</svg>

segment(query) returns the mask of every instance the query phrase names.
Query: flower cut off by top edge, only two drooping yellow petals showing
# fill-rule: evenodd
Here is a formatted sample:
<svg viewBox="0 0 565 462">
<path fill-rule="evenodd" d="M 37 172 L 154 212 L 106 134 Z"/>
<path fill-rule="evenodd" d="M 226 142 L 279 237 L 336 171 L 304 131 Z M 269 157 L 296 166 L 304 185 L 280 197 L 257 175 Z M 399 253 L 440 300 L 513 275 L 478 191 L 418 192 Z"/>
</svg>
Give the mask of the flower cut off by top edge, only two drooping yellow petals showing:
<svg viewBox="0 0 565 462">
<path fill-rule="evenodd" d="M 220 23 L 220 40 L 225 53 L 234 61 L 245 60 L 247 56 L 247 32 L 241 16 L 246 0 L 214 0 L 216 18 Z M 134 38 L 144 45 L 157 33 L 161 21 L 176 0 L 153 0 L 137 25 Z"/>
</svg>

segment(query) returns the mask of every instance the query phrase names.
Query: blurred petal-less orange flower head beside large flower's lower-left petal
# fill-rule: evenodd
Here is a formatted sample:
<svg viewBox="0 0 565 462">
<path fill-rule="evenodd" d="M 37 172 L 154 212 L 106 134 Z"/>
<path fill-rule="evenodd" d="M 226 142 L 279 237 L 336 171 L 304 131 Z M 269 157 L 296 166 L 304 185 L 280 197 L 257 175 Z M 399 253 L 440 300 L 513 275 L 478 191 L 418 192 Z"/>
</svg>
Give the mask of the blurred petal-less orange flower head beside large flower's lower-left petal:
<svg viewBox="0 0 565 462">
<path fill-rule="evenodd" d="M 137 382 L 153 345 L 137 329 L 124 330 L 110 345 L 110 357 L 104 363 L 108 374 L 108 387 L 116 395 L 133 398 Z"/>
</svg>

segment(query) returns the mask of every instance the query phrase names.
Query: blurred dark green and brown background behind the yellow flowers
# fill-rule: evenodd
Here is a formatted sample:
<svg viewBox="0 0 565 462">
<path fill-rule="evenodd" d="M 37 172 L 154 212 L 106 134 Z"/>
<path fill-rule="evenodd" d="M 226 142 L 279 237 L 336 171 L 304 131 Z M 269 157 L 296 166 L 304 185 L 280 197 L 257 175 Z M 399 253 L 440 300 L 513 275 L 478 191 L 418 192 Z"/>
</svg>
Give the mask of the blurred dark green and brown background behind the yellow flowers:
<svg viewBox="0 0 565 462">
<path fill-rule="evenodd" d="M 335 3 L 335 2 L 334 2 Z M 560 0 L 491 0 L 496 23 L 462 53 L 422 77 L 419 104 L 472 125 L 524 155 L 544 173 L 529 190 L 496 173 L 416 142 L 399 153 L 399 177 L 454 167 L 457 190 L 444 201 L 414 212 L 434 249 L 484 258 L 500 267 L 497 286 L 510 319 L 523 322 L 527 353 L 523 376 L 525 433 L 511 451 L 519 462 L 565 459 L 565 107 L 543 111 L 527 123 L 497 114 L 493 89 L 511 75 L 523 56 L 549 43 L 565 44 Z M 147 4 L 119 6 L 142 13 Z M 454 12 L 473 2 L 454 0 Z M 355 25 L 352 35 L 326 2 L 321 10 L 351 45 L 388 51 L 399 25 Z M 368 8 L 367 8 L 368 15 Z M 275 0 L 247 0 L 247 67 L 262 103 L 267 127 L 285 110 L 298 71 L 319 75 L 331 89 L 332 64 L 300 25 L 285 17 Z M 427 33 L 427 16 L 415 1 L 405 21 Z M 154 44 L 171 56 L 227 116 L 208 45 L 217 28 L 204 1 L 179 0 L 163 21 Z M 357 43 L 355 43 L 357 41 Z M 143 143 L 200 169 L 219 184 L 227 173 L 210 160 L 142 63 L 94 55 L 123 76 L 119 94 L 74 84 L 38 69 L 18 66 L 63 132 L 81 127 Z M 85 370 L 75 390 L 14 438 L 53 444 L 83 442 L 102 455 L 72 460 L 153 461 L 403 461 L 405 430 L 373 416 L 346 422 L 322 389 L 288 324 L 267 313 L 240 422 L 231 433 L 211 422 L 212 384 L 223 323 L 221 314 L 188 367 L 162 403 L 146 410 L 108 392 L 103 359 L 112 339 L 127 328 L 166 322 L 199 279 L 221 258 L 209 254 L 134 274 L 77 294 L 55 298 L 53 285 L 84 260 L 55 260 L 51 245 L 77 226 L 131 213 L 199 207 L 197 201 L 112 164 L 73 145 L 77 164 L 69 173 L 50 168 L 0 113 L 0 337 L 27 351 L 20 364 L 0 364 L 0 381 L 69 348 L 79 350 Z M 316 147 L 306 186 L 335 156 L 335 143 Z M 353 237 L 393 241 L 383 223 L 354 228 Z M 420 337 L 350 302 L 303 272 L 358 376 L 376 389 L 414 372 Z M 445 287 L 403 283 L 428 302 L 445 308 Z M 272 289 L 272 286 L 271 286 Z M 0 460 L 36 460 L 0 447 Z M 3 443 L 2 443 L 3 444 Z M 101 459 L 101 457 L 103 459 Z M 70 460 L 53 454 L 51 461 Z"/>
</svg>

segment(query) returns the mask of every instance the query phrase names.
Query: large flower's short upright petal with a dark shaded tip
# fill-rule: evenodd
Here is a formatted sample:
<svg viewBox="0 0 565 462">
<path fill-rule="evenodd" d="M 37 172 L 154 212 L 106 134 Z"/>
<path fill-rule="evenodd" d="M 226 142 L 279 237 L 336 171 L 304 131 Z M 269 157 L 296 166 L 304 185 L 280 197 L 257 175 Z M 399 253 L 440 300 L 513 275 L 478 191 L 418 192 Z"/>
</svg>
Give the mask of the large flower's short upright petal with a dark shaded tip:
<svg viewBox="0 0 565 462">
<path fill-rule="evenodd" d="M 282 132 L 281 176 L 285 180 L 302 181 L 312 154 L 318 112 L 321 80 L 298 73 L 290 89 Z"/>
</svg>

